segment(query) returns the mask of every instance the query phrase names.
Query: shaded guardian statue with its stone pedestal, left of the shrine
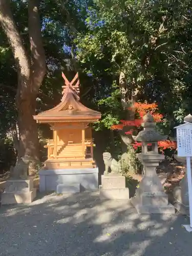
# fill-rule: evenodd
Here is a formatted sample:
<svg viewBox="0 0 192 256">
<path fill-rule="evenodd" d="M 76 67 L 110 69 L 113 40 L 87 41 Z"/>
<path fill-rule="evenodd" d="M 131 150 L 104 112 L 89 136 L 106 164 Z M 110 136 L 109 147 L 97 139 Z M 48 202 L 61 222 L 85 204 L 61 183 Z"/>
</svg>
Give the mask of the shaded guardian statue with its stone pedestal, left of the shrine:
<svg viewBox="0 0 192 256">
<path fill-rule="evenodd" d="M 29 177 L 29 157 L 22 157 L 15 167 L 10 169 L 10 179 L 6 181 L 2 193 L 3 204 L 31 203 L 36 197 L 33 178 Z"/>
</svg>

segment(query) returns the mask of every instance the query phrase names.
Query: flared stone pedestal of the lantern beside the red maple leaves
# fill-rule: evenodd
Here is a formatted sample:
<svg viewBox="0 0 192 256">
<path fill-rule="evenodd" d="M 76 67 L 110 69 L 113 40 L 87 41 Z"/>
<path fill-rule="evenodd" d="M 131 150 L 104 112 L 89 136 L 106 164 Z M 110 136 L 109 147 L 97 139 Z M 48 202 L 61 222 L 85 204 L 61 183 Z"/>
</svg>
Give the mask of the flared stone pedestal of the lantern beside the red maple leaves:
<svg viewBox="0 0 192 256">
<path fill-rule="evenodd" d="M 168 204 L 168 196 L 156 173 L 156 167 L 164 155 L 148 152 L 138 154 L 138 158 L 145 169 L 136 196 L 131 200 L 138 214 L 175 214 L 175 208 Z"/>
</svg>

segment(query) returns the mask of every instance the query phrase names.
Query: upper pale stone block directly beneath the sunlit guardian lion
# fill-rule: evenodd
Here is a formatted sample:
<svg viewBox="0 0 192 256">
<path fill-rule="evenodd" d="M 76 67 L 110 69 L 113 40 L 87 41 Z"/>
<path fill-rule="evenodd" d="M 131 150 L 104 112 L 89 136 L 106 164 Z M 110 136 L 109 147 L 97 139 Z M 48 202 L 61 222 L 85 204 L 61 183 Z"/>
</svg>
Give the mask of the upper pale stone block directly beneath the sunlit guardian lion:
<svg viewBox="0 0 192 256">
<path fill-rule="evenodd" d="M 103 189 L 125 188 L 125 177 L 121 175 L 102 175 L 101 184 Z"/>
</svg>

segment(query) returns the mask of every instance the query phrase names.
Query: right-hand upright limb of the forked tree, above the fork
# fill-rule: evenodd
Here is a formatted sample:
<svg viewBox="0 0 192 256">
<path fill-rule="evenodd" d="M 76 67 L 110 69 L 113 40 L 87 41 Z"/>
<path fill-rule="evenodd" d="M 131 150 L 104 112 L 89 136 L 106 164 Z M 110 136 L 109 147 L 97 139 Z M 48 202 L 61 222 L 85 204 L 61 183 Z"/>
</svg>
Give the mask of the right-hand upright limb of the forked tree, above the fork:
<svg viewBox="0 0 192 256">
<path fill-rule="evenodd" d="M 28 2 L 28 26 L 31 48 L 32 91 L 37 94 L 46 73 L 46 56 L 42 44 L 41 23 L 39 17 L 39 0 Z"/>
</svg>

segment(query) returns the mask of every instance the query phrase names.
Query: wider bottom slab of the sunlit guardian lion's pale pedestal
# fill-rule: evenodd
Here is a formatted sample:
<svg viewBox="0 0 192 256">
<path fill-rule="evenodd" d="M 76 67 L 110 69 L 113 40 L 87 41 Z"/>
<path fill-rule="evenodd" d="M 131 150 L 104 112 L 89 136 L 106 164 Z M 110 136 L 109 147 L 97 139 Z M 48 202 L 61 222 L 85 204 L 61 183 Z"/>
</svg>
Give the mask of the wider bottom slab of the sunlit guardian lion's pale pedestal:
<svg viewBox="0 0 192 256">
<path fill-rule="evenodd" d="M 99 186 L 100 199 L 129 200 L 129 188 L 102 188 Z"/>
</svg>

